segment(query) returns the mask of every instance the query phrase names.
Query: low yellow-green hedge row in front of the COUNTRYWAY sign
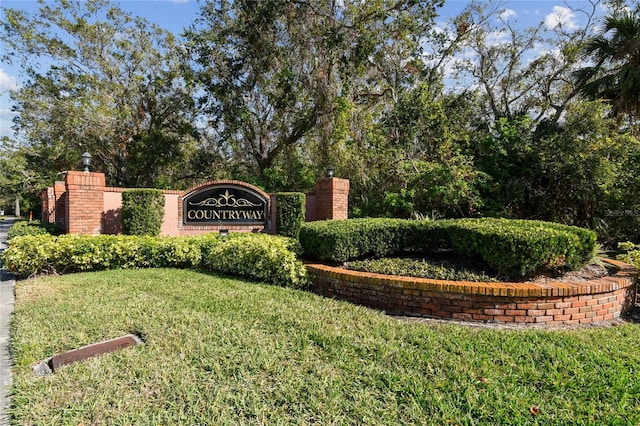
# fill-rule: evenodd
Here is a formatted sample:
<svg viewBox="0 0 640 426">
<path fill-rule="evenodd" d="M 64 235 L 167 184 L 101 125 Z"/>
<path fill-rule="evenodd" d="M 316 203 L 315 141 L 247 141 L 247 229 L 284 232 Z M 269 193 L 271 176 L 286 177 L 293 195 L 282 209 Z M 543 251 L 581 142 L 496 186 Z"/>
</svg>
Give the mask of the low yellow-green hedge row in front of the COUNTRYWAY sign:
<svg viewBox="0 0 640 426">
<path fill-rule="evenodd" d="M 197 237 L 34 235 L 16 237 L 2 263 L 20 275 L 115 268 L 201 269 L 286 287 L 307 285 L 297 242 L 264 234 Z"/>
</svg>

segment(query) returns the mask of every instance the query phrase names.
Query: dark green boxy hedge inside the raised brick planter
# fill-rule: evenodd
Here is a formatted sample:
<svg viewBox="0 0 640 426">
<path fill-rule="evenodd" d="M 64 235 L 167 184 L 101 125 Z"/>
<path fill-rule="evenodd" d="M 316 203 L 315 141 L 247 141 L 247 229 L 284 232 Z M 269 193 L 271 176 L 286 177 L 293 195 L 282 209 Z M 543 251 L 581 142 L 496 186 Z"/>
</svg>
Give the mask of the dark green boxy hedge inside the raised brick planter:
<svg viewBox="0 0 640 426">
<path fill-rule="evenodd" d="M 357 219 L 307 223 L 300 242 L 306 257 L 325 262 L 454 250 L 482 259 L 499 274 L 525 276 L 579 268 L 595 253 L 596 234 L 531 220 Z"/>
</svg>

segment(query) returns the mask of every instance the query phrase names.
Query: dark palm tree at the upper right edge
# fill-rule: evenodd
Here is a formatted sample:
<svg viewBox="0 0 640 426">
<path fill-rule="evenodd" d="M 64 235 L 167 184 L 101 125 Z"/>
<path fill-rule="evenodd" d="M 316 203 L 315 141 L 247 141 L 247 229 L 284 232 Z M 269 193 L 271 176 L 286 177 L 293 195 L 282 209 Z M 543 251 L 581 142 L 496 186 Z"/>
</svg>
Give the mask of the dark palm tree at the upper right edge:
<svg viewBox="0 0 640 426">
<path fill-rule="evenodd" d="M 609 103 L 618 119 L 640 118 L 640 9 L 607 16 L 584 52 L 594 63 L 575 73 L 582 94 Z"/>
</svg>

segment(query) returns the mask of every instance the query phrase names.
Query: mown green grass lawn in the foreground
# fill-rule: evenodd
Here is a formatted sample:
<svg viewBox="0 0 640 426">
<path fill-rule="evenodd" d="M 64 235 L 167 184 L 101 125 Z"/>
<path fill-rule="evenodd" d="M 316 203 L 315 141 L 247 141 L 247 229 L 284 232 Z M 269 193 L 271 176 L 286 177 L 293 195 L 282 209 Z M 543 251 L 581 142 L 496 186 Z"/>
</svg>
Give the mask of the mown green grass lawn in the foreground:
<svg viewBox="0 0 640 426">
<path fill-rule="evenodd" d="M 16 424 L 640 424 L 640 328 L 405 323 L 193 271 L 19 281 Z M 36 378 L 53 354 L 146 344 Z"/>
</svg>

